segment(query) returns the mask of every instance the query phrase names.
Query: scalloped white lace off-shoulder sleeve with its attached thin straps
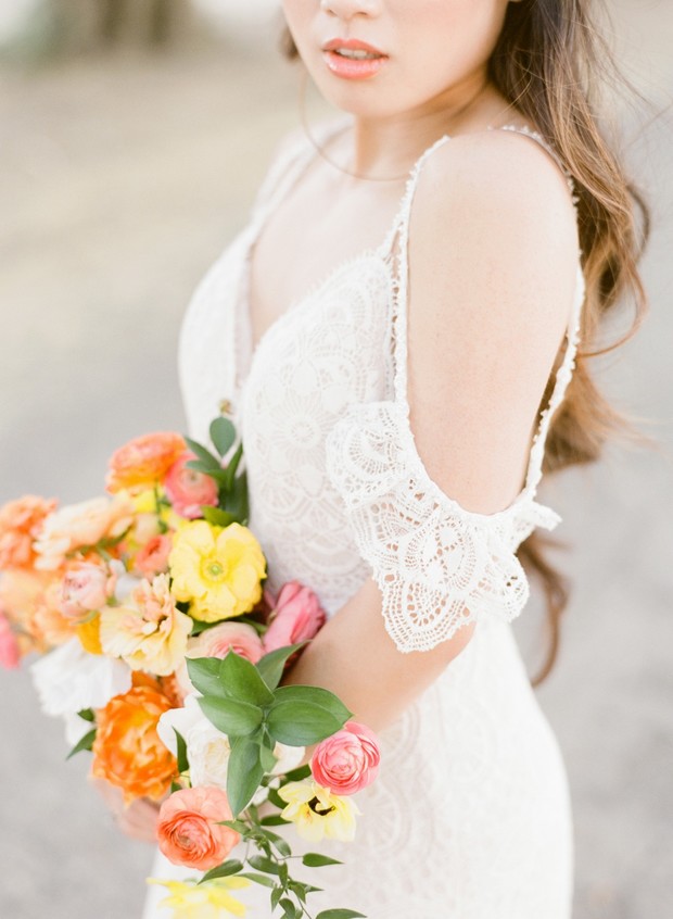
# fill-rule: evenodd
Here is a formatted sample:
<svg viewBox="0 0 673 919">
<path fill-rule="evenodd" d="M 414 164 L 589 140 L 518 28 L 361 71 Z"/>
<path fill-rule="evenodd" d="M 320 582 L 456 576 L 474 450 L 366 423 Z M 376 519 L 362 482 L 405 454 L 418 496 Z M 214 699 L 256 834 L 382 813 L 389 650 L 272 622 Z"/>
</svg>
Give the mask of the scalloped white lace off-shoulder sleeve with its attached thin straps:
<svg viewBox="0 0 673 919">
<path fill-rule="evenodd" d="M 536 138 L 534 138 L 536 139 Z M 393 304 L 395 398 L 353 404 L 328 435 L 328 475 L 340 492 L 353 539 L 382 594 L 388 633 L 402 652 L 429 651 L 482 616 L 511 621 L 529 599 L 517 558 L 536 527 L 561 517 L 535 500 L 544 442 L 574 366 L 584 284 L 580 262 L 566 353 L 533 440 L 525 486 L 504 511 L 467 511 L 430 478 L 409 423 L 406 380 L 407 231 L 423 160 L 417 161 L 399 211 L 399 277 Z"/>
</svg>

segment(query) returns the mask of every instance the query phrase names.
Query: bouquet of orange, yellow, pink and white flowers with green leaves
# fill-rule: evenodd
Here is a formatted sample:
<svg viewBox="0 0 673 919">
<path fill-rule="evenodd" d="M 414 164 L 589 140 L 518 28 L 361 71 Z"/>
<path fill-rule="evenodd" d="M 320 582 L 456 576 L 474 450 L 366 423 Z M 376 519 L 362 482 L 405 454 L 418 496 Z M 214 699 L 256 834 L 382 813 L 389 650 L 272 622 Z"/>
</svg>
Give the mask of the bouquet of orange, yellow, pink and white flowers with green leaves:
<svg viewBox="0 0 673 919">
<path fill-rule="evenodd" d="M 291 876 L 299 856 L 282 827 L 352 840 L 352 796 L 380 754 L 331 692 L 282 684 L 326 615 L 297 581 L 278 596 L 264 588 L 242 444 L 227 417 L 209 436 L 215 452 L 177 433 L 130 441 L 111 458 L 106 496 L 0 508 L 0 663 L 37 652 L 34 682 L 43 710 L 65 719 L 68 757 L 91 751 L 92 776 L 126 804 L 161 803 L 161 851 L 200 874 L 148 879 L 168 889 L 176 919 L 243 916 L 231 892 L 250 884 L 300 919 L 320 889 Z"/>
</svg>

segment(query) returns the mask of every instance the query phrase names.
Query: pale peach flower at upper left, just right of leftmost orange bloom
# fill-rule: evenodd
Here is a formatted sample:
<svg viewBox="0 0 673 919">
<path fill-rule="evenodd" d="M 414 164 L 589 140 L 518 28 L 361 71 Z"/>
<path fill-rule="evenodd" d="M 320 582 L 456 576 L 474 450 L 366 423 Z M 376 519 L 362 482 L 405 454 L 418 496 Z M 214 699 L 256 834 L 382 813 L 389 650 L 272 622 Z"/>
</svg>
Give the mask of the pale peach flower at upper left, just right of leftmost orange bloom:
<svg viewBox="0 0 673 919">
<path fill-rule="evenodd" d="M 134 507 L 126 498 L 93 498 L 54 511 L 42 525 L 35 543 L 39 558 L 36 568 L 46 571 L 61 567 L 65 556 L 76 549 L 96 543 L 104 537 L 120 536 L 131 525 Z"/>
</svg>

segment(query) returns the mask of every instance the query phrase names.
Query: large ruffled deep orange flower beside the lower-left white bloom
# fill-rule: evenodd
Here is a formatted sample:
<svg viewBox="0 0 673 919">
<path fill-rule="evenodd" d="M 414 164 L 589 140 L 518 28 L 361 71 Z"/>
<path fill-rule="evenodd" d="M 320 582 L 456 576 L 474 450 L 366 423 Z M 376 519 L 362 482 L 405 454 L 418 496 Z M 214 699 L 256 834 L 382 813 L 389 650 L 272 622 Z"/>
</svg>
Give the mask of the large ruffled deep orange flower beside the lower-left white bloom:
<svg viewBox="0 0 673 919">
<path fill-rule="evenodd" d="M 96 713 L 91 772 L 120 788 L 126 804 L 160 801 L 177 778 L 177 760 L 156 733 L 160 717 L 172 707 L 172 700 L 145 684 L 115 695 Z"/>
</svg>

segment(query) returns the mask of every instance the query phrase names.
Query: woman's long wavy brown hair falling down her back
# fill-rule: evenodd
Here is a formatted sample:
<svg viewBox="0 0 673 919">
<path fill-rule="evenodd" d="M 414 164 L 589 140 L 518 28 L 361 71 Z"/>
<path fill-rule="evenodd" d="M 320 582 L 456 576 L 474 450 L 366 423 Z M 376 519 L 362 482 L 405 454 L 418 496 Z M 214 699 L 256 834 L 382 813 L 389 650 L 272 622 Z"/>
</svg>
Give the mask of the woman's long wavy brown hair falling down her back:
<svg viewBox="0 0 673 919">
<path fill-rule="evenodd" d="M 617 71 L 600 32 L 592 23 L 592 0 L 520 0 L 510 3 L 488 63 L 500 93 L 557 150 L 573 176 L 586 300 L 582 311 L 580 349 L 566 396 L 553 416 L 545 443 L 543 473 L 595 463 L 611 438 L 644 443 L 632 420 L 613 408 L 596 387 L 589 361 L 631 339 L 647 313 L 637 264 L 649 236 L 649 215 L 640 194 L 626 178 L 618 156 L 598 127 L 599 90 Z M 297 50 L 289 29 L 283 53 Z M 639 212 L 640 221 L 637 219 Z M 607 314 L 625 299 L 635 307 L 633 325 L 612 344 L 596 344 Z M 539 411 L 548 403 L 562 354 L 557 357 Z M 548 643 L 544 663 L 533 678 L 538 685 L 551 671 L 560 640 L 560 620 L 570 587 L 546 557 L 546 549 L 563 543 L 535 530 L 519 547 L 519 557 L 534 574 L 547 606 Z"/>
</svg>

